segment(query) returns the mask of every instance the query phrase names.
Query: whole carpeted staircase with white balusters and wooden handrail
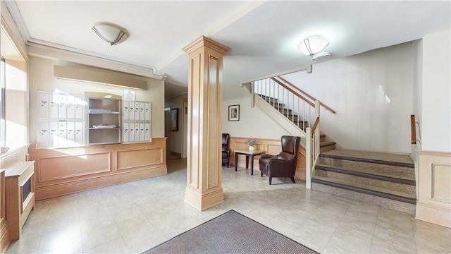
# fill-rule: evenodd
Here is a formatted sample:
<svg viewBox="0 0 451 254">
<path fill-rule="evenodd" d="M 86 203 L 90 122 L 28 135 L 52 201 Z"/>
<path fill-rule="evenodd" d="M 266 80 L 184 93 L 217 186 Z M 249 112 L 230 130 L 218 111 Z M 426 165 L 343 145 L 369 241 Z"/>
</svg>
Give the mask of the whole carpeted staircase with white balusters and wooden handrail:
<svg viewBox="0 0 451 254">
<path fill-rule="evenodd" d="M 242 85 L 261 98 L 252 97 L 252 105 L 257 104 L 291 135 L 302 136 L 305 146 L 299 153 L 304 160 L 300 160 L 302 165 L 298 163 L 298 168 L 305 177 L 306 188 L 415 213 L 414 164 L 408 155 L 335 150 L 335 142 L 326 141 L 326 135 L 319 134 L 320 128 L 316 126 L 320 104 L 335 114 L 333 109 L 280 76 Z"/>
</svg>

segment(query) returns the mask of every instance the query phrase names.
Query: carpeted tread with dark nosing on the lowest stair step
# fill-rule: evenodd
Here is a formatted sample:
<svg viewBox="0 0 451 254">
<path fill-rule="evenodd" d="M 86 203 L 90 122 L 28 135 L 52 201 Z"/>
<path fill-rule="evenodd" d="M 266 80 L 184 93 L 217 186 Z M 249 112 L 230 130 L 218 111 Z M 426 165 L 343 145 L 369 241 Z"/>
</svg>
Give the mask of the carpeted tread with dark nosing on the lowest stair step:
<svg viewBox="0 0 451 254">
<path fill-rule="evenodd" d="M 347 181 L 342 181 L 340 179 L 330 179 L 328 177 L 323 176 L 314 176 L 311 179 L 311 181 L 339 188 L 346 188 L 352 191 L 361 191 L 363 193 L 378 195 L 379 197 L 382 196 L 383 198 L 390 198 L 402 202 L 411 202 L 411 203 L 416 202 L 416 197 L 414 193 L 409 195 L 406 193 L 402 193 L 400 191 L 387 190 L 385 188 L 379 188 L 376 186 L 368 186 L 364 183 L 349 183 Z"/>
</svg>

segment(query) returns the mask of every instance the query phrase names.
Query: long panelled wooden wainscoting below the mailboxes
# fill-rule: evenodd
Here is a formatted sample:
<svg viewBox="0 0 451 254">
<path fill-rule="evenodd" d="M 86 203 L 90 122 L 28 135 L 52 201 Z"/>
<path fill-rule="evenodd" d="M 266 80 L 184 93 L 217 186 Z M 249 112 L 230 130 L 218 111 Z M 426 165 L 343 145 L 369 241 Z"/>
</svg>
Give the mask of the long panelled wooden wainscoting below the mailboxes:
<svg viewBox="0 0 451 254">
<path fill-rule="evenodd" d="M 166 138 L 151 143 L 36 149 L 36 200 L 168 174 Z"/>
</svg>

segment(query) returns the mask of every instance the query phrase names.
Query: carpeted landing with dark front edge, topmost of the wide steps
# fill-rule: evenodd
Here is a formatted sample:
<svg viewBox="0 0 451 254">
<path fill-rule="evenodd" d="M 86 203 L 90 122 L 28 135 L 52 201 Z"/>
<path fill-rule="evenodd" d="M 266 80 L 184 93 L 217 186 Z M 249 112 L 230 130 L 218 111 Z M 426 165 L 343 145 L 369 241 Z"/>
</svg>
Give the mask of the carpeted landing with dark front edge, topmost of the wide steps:
<svg viewBox="0 0 451 254">
<path fill-rule="evenodd" d="M 358 150 L 341 150 L 335 149 L 322 154 L 325 157 L 335 157 L 335 158 L 353 158 L 361 159 L 361 161 L 374 162 L 374 163 L 391 163 L 398 164 L 401 167 L 412 167 L 414 168 L 414 162 L 409 157 L 409 155 L 397 155 L 387 152 L 366 152 Z M 320 155 L 321 156 L 321 155 Z"/>
</svg>

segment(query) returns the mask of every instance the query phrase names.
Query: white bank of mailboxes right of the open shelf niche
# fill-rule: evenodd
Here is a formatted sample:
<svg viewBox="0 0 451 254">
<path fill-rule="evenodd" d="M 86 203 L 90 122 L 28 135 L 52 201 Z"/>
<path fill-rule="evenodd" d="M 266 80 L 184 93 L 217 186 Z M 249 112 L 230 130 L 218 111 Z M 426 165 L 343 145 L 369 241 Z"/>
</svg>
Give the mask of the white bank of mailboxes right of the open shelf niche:
<svg viewBox="0 0 451 254">
<path fill-rule="evenodd" d="M 123 143 L 150 140 L 150 102 L 122 102 Z"/>
</svg>

